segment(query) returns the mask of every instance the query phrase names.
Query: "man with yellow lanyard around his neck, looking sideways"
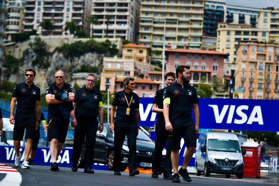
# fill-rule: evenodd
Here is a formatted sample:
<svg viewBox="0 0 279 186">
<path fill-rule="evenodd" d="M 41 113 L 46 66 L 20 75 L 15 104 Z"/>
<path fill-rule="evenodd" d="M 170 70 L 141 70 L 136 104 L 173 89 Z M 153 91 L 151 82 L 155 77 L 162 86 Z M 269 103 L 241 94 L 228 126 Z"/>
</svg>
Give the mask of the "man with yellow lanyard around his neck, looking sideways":
<svg viewBox="0 0 279 186">
<path fill-rule="evenodd" d="M 110 131 L 114 135 L 114 175 L 121 175 L 121 151 L 125 140 L 128 138 L 129 148 L 129 176 L 139 174 L 137 164 L 137 136 L 139 133 L 139 96 L 133 93 L 135 90 L 134 78 L 128 77 L 123 82 L 125 90 L 115 93 L 113 106 L 110 112 Z M 115 123 L 113 123 L 114 113 L 117 107 Z"/>
</svg>

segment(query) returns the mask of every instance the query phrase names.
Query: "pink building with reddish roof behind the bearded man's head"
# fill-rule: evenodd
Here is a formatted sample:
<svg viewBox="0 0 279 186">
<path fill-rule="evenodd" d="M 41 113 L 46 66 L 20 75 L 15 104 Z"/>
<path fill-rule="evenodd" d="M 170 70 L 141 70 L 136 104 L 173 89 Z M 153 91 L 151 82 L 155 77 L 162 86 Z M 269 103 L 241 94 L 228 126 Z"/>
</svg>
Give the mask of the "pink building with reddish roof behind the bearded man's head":
<svg viewBox="0 0 279 186">
<path fill-rule="evenodd" d="M 175 72 L 179 65 L 190 66 L 190 84 L 195 86 L 201 81 L 212 84 L 214 78 L 223 78 L 224 58 L 229 54 L 211 50 L 171 49 L 165 51 L 167 71 Z"/>
</svg>

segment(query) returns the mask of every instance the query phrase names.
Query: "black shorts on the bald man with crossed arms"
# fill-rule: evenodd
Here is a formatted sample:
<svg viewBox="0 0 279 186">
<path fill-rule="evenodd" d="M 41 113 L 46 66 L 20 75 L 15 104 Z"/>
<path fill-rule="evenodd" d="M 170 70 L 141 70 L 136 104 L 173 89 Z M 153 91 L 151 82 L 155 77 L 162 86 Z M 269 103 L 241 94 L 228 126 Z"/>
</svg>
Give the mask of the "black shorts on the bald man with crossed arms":
<svg viewBox="0 0 279 186">
<path fill-rule="evenodd" d="M 49 121 L 47 123 L 49 124 L 47 127 L 48 141 L 58 139 L 59 143 L 65 143 L 70 119 L 67 118 L 63 121 L 52 119 L 50 123 Z"/>
</svg>

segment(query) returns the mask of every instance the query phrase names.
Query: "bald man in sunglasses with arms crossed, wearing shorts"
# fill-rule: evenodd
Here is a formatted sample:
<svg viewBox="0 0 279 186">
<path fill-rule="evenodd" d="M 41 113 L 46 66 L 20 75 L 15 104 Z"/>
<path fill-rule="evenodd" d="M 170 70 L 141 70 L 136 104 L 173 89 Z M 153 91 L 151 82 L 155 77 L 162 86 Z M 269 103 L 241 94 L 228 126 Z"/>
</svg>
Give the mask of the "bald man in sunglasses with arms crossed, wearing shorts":
<svg viewBox="0 0 279 186">
<path fill-rule="evenodd" d="M 65 143 L 68 126 L 70 124 L 70 112 L 74 110 L 75 97 L 73 87 L 64 83 L 65 73 L 58 70 L 55 73 L 55 83 L 46 88 L 45 99 L 48 103 L 48 141 L 50 141 L 51 171 L 59 171 L 56 160 Z"/>
</svg>

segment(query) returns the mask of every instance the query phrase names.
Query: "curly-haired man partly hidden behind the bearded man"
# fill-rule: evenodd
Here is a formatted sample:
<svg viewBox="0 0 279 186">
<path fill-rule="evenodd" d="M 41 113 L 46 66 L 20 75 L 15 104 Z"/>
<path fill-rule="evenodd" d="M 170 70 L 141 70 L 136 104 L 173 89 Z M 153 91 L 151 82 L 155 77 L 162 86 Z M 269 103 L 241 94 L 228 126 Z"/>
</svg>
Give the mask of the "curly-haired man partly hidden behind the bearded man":
<svg viewBox="0 0 279 186">
<path fill-rule="evenodd" d="M 168 72 L 164 76 L 166 87 L 173 84 L 175 80 L 175 74 L 173 72 Z M 159 178 L 158 172 L 162 160 L 162 150 L 164 149 L 167 138 L 168 138 L 168 131 L 165 129 L 165 121 L 163 116 L 163 93 L 166 88 L 160 89 L 156 91 L 154 100 L 153 100 L 153 106 L 152 106 L 152 112 L 158 113 L 157 115 L 157 122 L 155 126 L 155 150 L 153 155 L 153 161 L 152 161 L 152 176 L 151 178 Z M 172 175 L 172 167 L 171 167 L 171 160 L 170 160 L 170 144 L 167 143 L 166 146 L 166 155 L 164 159 L 164 165 L 163 165 L 163 179 L 164 180 L 171 180 Z"/>
</svg>

